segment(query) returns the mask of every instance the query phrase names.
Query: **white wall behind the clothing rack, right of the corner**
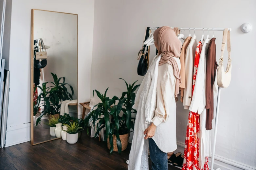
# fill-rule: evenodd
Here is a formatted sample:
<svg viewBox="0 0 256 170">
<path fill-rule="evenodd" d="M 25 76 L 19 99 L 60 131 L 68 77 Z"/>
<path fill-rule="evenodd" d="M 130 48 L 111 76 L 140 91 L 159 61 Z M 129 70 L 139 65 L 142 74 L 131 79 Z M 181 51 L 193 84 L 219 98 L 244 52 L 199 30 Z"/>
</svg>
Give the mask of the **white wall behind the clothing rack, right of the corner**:
<svg viewBox="0 0 256 170">
<path fill-rule="evenodd" d="M 110 97 L 121 96 L 126 87 L 118 78 L 141 83 L 136 59 L 147 26 L 232 28 L 232 80 L 221 93 L 216 155 L 226 163 L 256 169 L 255 7 L 254 0 L 95 0 L 91 96 L 94 89 L 104 92 L 108 87 Z M 253 27 L 248 34 L 240 30 L 244 22 Z M 196 31 L 196 35 L 200 39 L 202 31 Z M 218 60 L 222 32 L 215 31 L 214 35 Z M 187 120 L 188 110 L 178 102 L 177 140 L 181 145 L 185 142 Z"/>
</svg>

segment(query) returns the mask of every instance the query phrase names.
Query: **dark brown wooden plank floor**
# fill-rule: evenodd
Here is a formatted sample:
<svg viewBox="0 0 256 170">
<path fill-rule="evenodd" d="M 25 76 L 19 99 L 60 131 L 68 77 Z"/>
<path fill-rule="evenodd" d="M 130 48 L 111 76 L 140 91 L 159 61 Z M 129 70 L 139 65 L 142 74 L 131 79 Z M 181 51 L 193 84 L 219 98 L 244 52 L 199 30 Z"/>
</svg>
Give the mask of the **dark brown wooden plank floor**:
<svg viewBox="0 0 256 170">
<path fill-rule="evenodd" d="M 116 152 L 110 155 L 105 142 L 85 133 L 76 144 L 68 144 L 62 139 L 35 146 L 26 142 L 0 149 L 0 169 L 126 170 L 130 147 L 129 144 L 121 155 Z M 169 170 L 179 169 L 169 165 Z"/>
</svg>

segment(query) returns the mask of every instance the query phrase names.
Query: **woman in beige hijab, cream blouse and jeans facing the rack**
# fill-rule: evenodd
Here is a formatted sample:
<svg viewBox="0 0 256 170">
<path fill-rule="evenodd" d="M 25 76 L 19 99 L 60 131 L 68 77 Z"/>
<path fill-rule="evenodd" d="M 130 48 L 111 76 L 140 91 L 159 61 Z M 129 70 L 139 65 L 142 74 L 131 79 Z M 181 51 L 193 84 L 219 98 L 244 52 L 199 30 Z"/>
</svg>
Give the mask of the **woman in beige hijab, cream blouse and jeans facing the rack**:
<svg viewBox="0 0 256 170">
<path fill-rule="evenodd" d="M 167 153 L 176 150 L 176 103 L 179 93 L 181 41 L 170 27 L 154 32 L 159 51 L 135 98 L 137 109 L 129 170 L 148 170 L 148 148 L 153 170 L 168 170 Z M 150 124 L 150 125 L 149 125 Z"/>
</svg>

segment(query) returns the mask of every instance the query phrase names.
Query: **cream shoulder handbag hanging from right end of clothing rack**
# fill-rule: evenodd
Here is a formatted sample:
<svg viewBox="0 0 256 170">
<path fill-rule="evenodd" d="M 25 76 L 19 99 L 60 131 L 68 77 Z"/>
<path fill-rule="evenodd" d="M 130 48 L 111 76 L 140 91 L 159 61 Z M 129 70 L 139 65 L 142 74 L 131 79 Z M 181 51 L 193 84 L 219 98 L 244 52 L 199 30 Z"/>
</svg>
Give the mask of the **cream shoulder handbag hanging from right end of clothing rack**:
<svg viewBox="0 0 256 170">
<path fill-rule="evenodd" d="M 226 47 L 226 42 L 228 44 L 228 53 L 229 53 L 229 59 L 226 71 L 224 71 L 223 66 L 223 54 Z M 224 29 L 223 38 L 222 38 L 222 46 L 221 46 L 221 56 L 220 56 L 220 62 L 217 70 L 217 84 L 221 88 L 227 88 L 229 87 L 230 81 L 231 81 L 231 57 L 230 57 L 230 31 L 228 31 L 228 28 Z"/>
</svg>

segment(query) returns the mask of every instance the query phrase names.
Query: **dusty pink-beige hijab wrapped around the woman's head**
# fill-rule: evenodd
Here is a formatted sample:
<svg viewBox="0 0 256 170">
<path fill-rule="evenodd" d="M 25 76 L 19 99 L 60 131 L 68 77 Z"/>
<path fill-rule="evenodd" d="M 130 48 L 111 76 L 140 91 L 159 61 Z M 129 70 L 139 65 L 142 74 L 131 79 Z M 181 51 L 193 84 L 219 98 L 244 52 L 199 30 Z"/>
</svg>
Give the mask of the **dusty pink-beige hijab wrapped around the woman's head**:
<svg viewBox="0 0 256 170">
<path fill-rule="evenodd" d="M 180 57 L 181 41 L 177 38 L 174 30 L 171 27 L 163 26 L 155 30 L 154 32 L 155 47 L 162 53 L 162 57 L 159 61 L 159 66 L 165 63 L 173 65 L 174 76 L 176 77 L 175 92 L 174 95 L 177 97 L 179 94 L 179 85 L 181 83 L 180 72 L 178 69 L 177 62 L 174 57 Z"/>
</svg>

